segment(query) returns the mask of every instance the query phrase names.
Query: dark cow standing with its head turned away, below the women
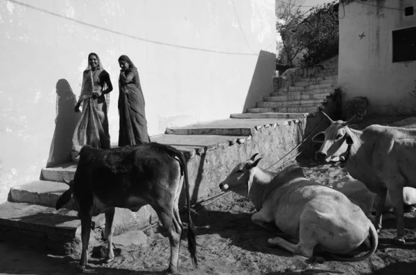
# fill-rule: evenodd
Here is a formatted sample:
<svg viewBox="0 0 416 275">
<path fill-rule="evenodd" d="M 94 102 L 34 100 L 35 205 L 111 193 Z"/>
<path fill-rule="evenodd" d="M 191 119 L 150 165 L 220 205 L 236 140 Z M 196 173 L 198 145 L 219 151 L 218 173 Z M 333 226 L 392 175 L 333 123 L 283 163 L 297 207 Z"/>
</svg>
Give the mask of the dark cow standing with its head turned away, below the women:
<svg viewBox="0 0 416 275">
<path fill-rule="evenodd" d="M 168 229 L 171 262 L 166 274 L 176 274 L 182 222 L 178 201 L 185 181 L 189 219 L 188 249 L 194 265 L 196 259 L 196 228 L 191 220 L 189 180 L 184 155 L 175 148 L 159 143 L 146 143 L 102 150 L 84 146 L 69 189 L 63 193 L 56 209 L 69 202 L 71 195 L 78 205 L 81 219 L 83 251 L 78 269 L 88 262 L 88 242 L 92 216 L 105 213 L 105 238 L 108 240 L 106 261 L 114 260 L 112 222 L 115 207 L 138 211 L 150 204 L 159 220 Z"/>
</svg>

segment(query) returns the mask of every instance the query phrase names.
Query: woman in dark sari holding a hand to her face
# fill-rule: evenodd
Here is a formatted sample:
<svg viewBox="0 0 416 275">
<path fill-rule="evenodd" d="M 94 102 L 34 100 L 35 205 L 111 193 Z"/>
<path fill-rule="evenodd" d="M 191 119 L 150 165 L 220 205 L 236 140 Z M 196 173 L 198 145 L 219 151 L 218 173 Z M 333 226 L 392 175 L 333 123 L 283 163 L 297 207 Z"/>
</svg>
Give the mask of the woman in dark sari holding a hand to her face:
<svg viewBox="0 0 416 275">
<path fill-rule="evenodd" d="M 127 55 L 119 57 L 119 146 L 150 142 L 139 72 Z"/>
</svg>

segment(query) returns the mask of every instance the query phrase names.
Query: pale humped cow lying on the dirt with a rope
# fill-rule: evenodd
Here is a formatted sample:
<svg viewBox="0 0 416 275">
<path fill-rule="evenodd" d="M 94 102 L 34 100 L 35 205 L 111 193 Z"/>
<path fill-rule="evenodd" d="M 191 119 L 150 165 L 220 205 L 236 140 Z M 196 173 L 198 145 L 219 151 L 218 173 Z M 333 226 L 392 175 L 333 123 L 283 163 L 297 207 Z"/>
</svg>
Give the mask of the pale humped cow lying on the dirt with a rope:
<svg viewBox="0 0 416 275">
<path fill-rule="evenodd" d="M 332 254 L 350 254 L 370 236 L 371 249 L 365 255 L 333 256 L 354 261 L 374 254 L 379 242 L 374 225 L 343 193 L 306 179 L 299 166 L 278 173 L 258 168 L 261 158 L 254 161 L 256 155 L 236 166 L 220 188 L 252 199 L 258 211 L 252 215 L 255 224 L 269 229 L 274 223 L 299 239 L 295 245 L 275 237 L 268 240 L 268 245 L 313 258 L 316 246 Z"/>
</svg>

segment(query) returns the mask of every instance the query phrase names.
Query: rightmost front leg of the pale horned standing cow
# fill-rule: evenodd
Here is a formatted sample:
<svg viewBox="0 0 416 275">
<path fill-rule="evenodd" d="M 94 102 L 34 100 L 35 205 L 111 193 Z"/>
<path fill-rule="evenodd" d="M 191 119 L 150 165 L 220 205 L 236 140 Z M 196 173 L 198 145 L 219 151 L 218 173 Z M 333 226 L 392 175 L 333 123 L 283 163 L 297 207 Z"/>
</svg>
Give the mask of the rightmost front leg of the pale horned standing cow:
<svg viewBox="0 0 416 275">
<path fill-rule="evenodd" d="M 404 245 L 404 201 L 403 201 L 403 184 L 401 182 L 390 182 L 387 181 L 388 192 L 392 199 L 393 211 L 395 211 L 396 222 L 397 222 L 397 233 L 395 236 L 395 244 Z"/>
</svg>

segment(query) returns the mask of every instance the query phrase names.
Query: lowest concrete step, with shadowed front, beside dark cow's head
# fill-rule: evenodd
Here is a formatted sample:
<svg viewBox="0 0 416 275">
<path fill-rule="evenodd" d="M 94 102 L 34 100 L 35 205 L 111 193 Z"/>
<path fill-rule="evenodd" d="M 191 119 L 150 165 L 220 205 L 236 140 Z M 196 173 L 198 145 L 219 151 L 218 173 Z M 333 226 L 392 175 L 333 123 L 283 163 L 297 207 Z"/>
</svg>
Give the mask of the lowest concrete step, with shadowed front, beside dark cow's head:
<svg viewBox="0 0 416 275">
<path fill-rule="evenodd" d="M 102 227 L 104 214 L 93 217 L 94 229 Z M 81 222 L 77 211 L 27 204 L 5 202 L 0 204 L 1 237 L 10 240 L 40 242 L 54 251 L 71 254 L 80 251 Z M 92 230 L 90 245 L 101 239 L 101 231 Z"/>
</svg>

